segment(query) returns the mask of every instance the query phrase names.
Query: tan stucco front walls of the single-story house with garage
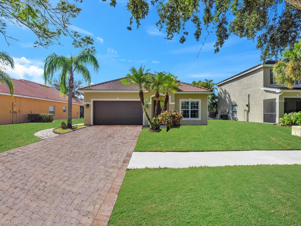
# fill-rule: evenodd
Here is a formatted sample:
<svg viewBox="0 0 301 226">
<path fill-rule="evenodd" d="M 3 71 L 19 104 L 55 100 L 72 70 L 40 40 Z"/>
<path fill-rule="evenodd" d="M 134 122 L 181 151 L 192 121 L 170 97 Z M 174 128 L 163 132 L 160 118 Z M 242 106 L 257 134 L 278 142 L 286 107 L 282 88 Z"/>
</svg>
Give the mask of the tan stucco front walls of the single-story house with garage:
<svg viewBox="0 0 301 226">
<path fill-rule="evenodd" d="M 84 109 L 84 123 L 85 124 L 93 124 L 93 101 L 97 100 L 108 100 L 108 101 L 140 101 L 138 91 L 131 91 L 131 92 L 86 92 L 81 91 L 84 93 L 84 103 L 89 104 L 89 108 Z M 163 96 L 163 94 L 161 93 Z M 179 101 L 180 99 L 197 99 L 200 100 L 200 119 L 199 120 L 183 120 L 181 125 L 206 125 L 207 120 L 207 95 L 208 94 L 182 94 L 182 93 L 171 93 L 169 95 L 169 103 L 168 103 L 168 110 L 175 110 L 180 111 L 179 109 Z M 151 101 L 148 103 L 147 113 L 148 115 L 153 118 L 154 110 L 153 110 L 153 103 L 155 98 L 154 92 L 145 92 L 144 93 L 144 100 L 146 101 L 149 96 L 151 97 Z M 147 126 L 148 121 L 144 116 L 143 125 Z"/>
</svg>

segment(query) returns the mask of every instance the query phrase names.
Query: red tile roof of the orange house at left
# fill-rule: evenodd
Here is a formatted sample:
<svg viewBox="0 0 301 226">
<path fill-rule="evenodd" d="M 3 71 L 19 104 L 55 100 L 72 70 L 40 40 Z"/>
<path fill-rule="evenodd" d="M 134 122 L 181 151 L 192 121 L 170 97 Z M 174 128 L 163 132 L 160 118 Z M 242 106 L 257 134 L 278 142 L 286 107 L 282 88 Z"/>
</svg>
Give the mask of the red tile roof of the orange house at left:
<svg viewBox="0 0 301 226">
<path fill-rule="evenodd" d="M 14 95 L 31 96 L 36 98 L 49 99 L 54 101 L 68 102 L 67 96 L 61 96 L 60 91 L 53 87 L 46 87 L 44 85 L 31 82 L 24 79 L 12 79 L 14 83 Z M 6 84 L 0 83 L 0 93 L 9 93 Z M 82 101 L 72 98 L 72 103 L 84 104 Z"/>
</svg>

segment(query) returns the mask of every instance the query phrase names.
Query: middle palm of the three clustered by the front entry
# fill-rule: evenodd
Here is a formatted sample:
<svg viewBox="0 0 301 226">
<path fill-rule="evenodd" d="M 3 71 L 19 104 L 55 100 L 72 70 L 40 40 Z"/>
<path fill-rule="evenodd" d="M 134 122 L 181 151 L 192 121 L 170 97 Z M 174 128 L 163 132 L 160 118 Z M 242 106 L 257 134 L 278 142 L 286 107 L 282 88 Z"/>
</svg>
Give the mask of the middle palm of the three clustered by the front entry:
<svg viewBox="0 0 301 226">
<path fill-rule="evenodd" d="M 156 91 L 155 97 L 156 97 L 156 106 L 155 106 L 155 112 L 154 117 L 157 117 L 157 109 L 158 109 L 158 103 L 159 103 L 159 97 L 160 93 L 159 91 L 163 89 L 163 84 L 166 80 L 166 74 L 162 72 L 156 72 L 155 74 L 149 75 L 149 83 L 150 83 L 150 89 L 152 91 Z"/>
</svg>

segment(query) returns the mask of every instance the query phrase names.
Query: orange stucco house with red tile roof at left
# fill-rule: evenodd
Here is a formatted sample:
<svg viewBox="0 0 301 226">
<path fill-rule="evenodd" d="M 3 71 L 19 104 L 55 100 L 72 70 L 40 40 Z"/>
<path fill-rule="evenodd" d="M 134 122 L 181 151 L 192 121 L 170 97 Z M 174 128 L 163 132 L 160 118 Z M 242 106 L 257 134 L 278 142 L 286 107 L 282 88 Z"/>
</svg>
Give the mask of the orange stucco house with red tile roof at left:
<svg viewBox="0 0 301 226">
<path fill-rule="evenodd" d="M 54 114 L 54 119 L 67 118 L 68 99 L 61 96 L 53 87 L 24 79 L 12 79 L 14 96 L 9 94 L 8 87 L 0 83 L 0 124 L 23 123 L 27 114 Z M 72 99 L 72 118 L 84 117 L 84 103 Z"/>
</svg>

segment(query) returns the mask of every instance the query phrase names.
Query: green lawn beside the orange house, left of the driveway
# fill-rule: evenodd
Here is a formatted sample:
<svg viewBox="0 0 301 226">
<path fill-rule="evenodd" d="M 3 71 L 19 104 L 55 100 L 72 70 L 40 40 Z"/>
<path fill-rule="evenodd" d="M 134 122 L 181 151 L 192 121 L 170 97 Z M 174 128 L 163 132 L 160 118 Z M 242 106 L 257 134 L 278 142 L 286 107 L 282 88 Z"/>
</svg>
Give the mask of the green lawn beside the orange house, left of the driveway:
<svg viewBox="0 0 301 226">
<path fill-rule="evenodd" d="M 54 120 L 45 123 L 20 123 L 0 125 L 0 152 L 31 144 L 41 140 L 34 133 L 61 126 L 62 121 L 67 124 L 67 119 Z M 72 119 L 72 124 L 83 123 L 83 118 Z"/>
</svg>

